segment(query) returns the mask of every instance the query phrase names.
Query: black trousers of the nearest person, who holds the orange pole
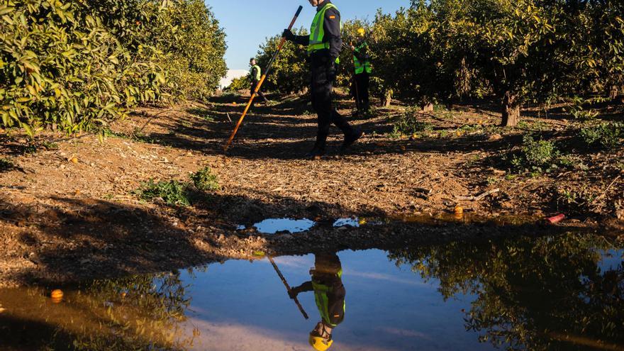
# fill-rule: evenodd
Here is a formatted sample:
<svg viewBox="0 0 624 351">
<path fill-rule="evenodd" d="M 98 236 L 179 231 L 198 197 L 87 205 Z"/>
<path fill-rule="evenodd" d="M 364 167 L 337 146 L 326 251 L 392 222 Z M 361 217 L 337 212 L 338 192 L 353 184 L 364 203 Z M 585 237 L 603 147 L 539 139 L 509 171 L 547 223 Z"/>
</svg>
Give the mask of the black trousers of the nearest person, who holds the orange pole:
<svg viewBox="0 0 624 351">
<path fill-rule="evenodd" d="M 332 104 L 333 80 L 328 77 L 329 55 L 311 55 L 311 95 L 312 108 L 318 115 L 318 133 L 316 134 L 316 146 L 324 148 L 329 135 L 331 124 L 335 124 L 342 133 L 352 135 L 355 133 L 347 120 L 340 116 Z"/>
</svg>

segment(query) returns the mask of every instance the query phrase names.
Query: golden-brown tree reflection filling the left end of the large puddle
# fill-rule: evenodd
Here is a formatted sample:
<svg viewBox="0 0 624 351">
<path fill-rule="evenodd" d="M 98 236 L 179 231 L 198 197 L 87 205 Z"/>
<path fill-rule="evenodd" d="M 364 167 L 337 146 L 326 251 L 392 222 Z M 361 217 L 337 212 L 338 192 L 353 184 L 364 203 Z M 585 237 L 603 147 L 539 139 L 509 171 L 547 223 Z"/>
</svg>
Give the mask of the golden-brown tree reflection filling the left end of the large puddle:
<svg viewBox="0 0 624 351">
<path fill-rule="evenodd" d="M 185 350 L 199 330 L 180 328 L 190 300 L 179 272 L 67 288 L 0 290 L 0 350 Z"/>
</svg>

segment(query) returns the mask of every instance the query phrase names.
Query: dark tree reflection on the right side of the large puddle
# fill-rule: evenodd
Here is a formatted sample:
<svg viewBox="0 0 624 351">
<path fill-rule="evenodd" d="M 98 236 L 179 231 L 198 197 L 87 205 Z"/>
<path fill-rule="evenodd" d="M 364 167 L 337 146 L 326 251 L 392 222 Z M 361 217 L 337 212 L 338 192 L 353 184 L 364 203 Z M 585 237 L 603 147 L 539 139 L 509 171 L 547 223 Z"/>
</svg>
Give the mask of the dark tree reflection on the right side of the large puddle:
<svg viewBox="0 0 624 351">
<path fill-rule="evenodd" d="M 603 237 L 568 234 L 389 253 L 448 299 L 475 294 L 466 327 L 508 350 L 624 350 L 624 262 L 602 271 Z M 619 345 L 619 346 L 618 346 Z"/>
</svg>

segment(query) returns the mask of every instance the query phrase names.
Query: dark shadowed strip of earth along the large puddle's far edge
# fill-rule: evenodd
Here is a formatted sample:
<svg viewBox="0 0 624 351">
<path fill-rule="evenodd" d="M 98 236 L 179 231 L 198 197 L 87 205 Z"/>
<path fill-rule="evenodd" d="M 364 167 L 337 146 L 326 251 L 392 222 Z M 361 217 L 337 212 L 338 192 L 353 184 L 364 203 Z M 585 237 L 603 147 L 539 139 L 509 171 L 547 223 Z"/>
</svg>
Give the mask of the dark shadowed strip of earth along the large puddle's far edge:
<svg viewBox="0 0 624 351">
<path fill-rule="evenodd" d="M 574 228 L 514 218 L 501 221 L 443 221 L 434 218 L 387 218 L 379 208 L 352 213 L 379 218 L 379 225 L 335 230 L 340 209 L 272 196 L 267 202 L 245 196 L 208 196 L 194 207 L 130 206 L 94 199 L 54 198 L 33 206 L 0 203 L 6 240 L 1 265 L 10 267 L 6 282 L 49 284 L 94 277 L 162 272 L 228 258 L 249 257 L 253 250 L 276 255 L 315 250 L 402 247 L 407 243 L 542 235 Z M 54 205 L 49 205 L 54 203 Z M 301 235 L 262 235 L 237 231 L 265 218 L 311 218 L 319 225 Z M 17 238 L 17 239 L 15 239 Z M 13 240 L 13 241 L 11 241 Z M 16 264 L 21 262 L 21 264 Z M 1 262 L 0 262 L 1 263 Z M 11 265 L 9 265 L 11 264 Z"/>
</svg>

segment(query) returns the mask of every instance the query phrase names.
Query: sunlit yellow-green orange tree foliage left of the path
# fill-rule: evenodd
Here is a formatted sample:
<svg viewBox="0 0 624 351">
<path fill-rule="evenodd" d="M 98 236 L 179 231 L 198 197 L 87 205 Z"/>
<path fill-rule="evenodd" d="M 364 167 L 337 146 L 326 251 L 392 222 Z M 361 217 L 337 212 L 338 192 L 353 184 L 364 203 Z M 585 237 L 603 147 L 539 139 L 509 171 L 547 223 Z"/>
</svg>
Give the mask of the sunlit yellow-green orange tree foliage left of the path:
<svg viewBox="0 0 624 351">
<path fill-rule="evenodd" d="M 172 34 L 180 23 L 186 36 Z M 208 96 L 225 74 L 223 31 L 200 0 L 3 0 L 0 26 L 1 123 L 30 135 Z"/>
</svg>

